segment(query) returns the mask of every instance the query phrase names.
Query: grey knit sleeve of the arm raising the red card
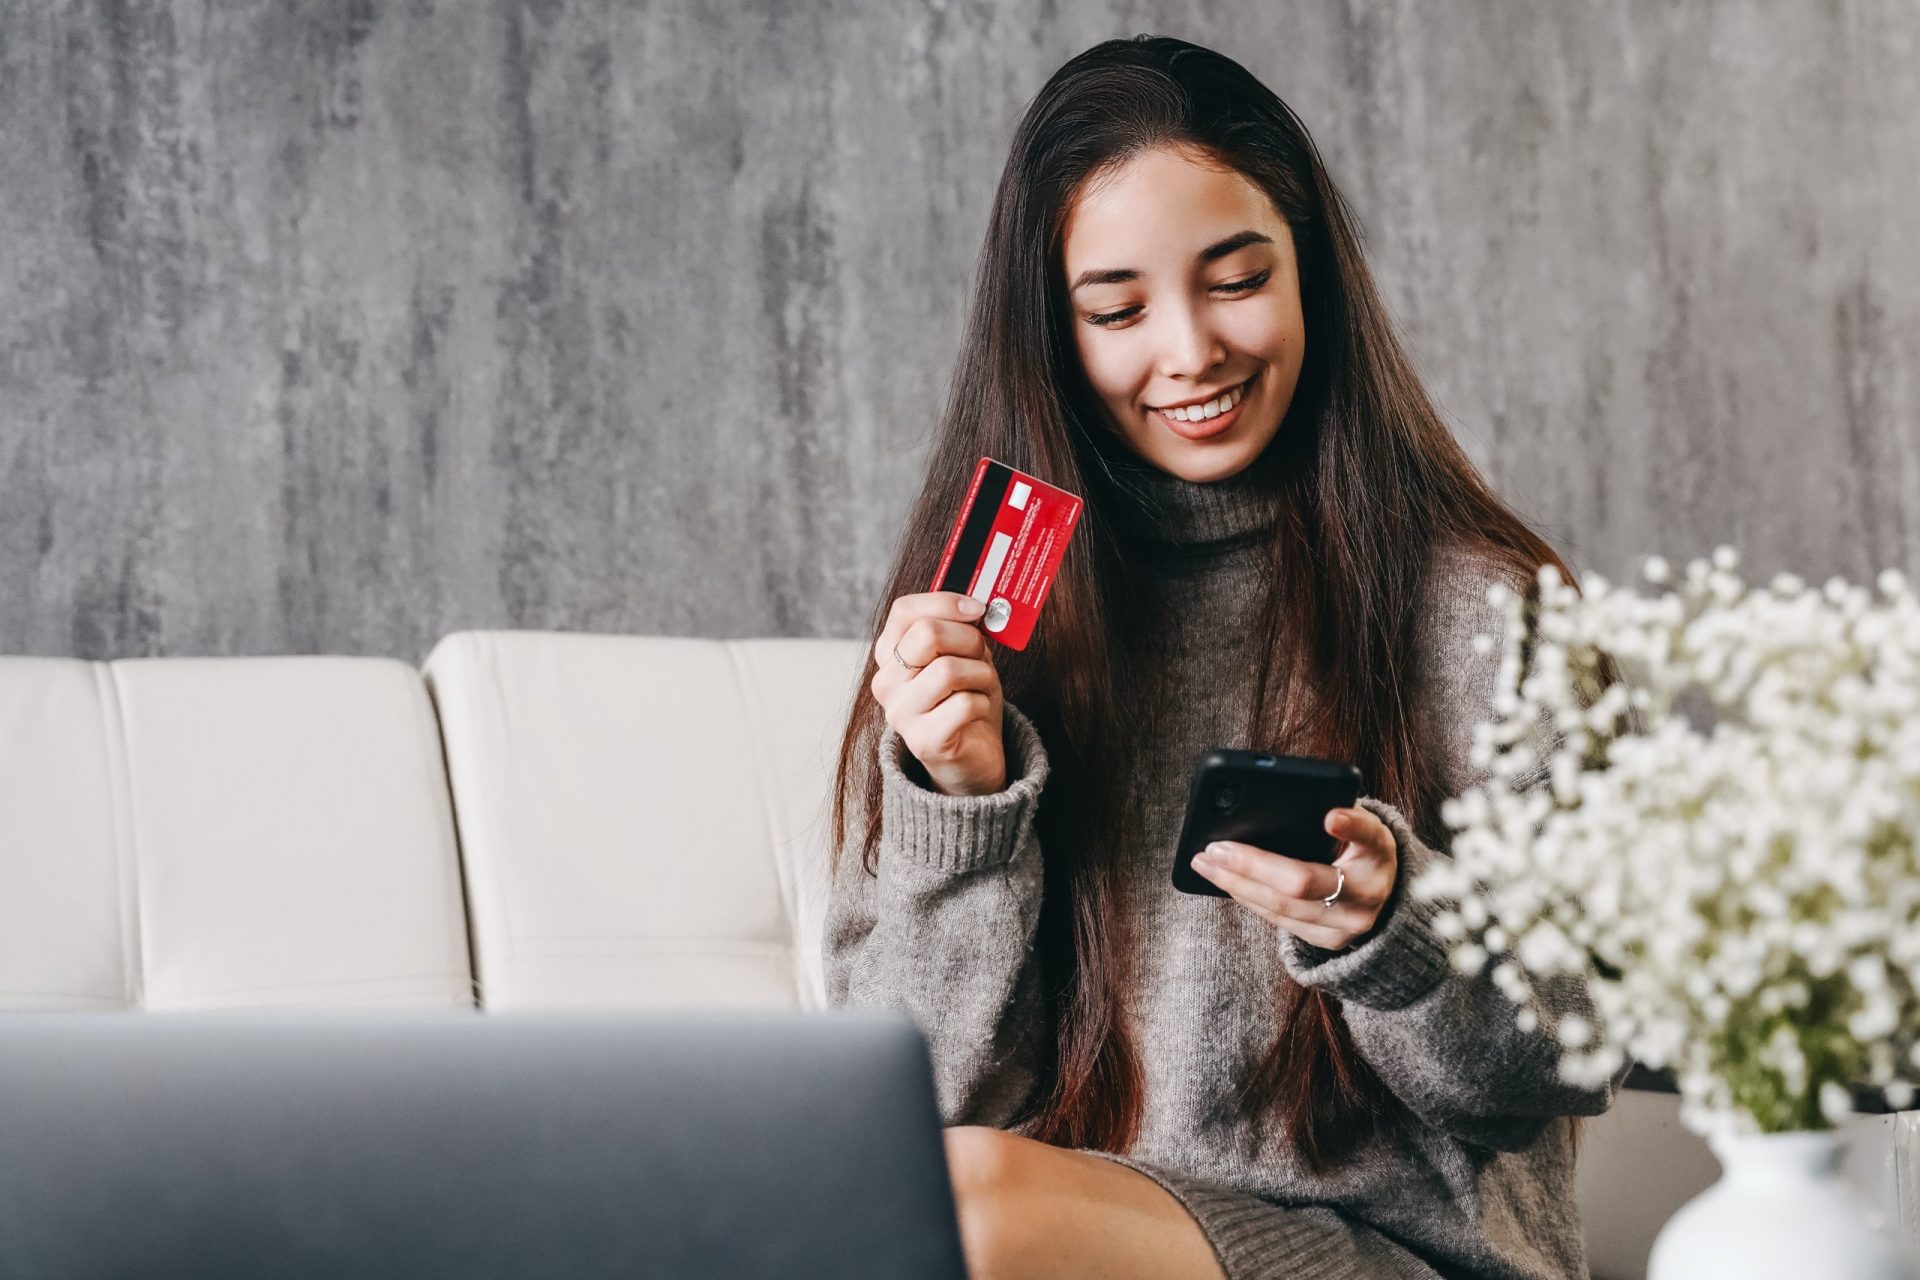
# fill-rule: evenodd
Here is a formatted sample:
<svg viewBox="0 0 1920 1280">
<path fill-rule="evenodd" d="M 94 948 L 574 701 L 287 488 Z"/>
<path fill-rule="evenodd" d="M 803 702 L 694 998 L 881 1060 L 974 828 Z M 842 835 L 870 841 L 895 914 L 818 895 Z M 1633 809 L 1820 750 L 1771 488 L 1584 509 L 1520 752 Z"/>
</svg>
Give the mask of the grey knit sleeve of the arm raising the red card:
<svg viewBox="0 0 1920 1280">
<path fill-rule="evenodd" d="M 1048 762 L 1041 735 L 1004 702 L 1008 783 L 948 796 L 900 735 L 879 739 L 881 835 L 876 873 L 847 844 L 824 931 L 828 1000 L 899 1006 L 933 1055 L 947 1125 L 1008 1126 L 1037 1079 L 1044 1023 L 1035 927 L 1041 842 L 1035 829 Z"/>
</svg>

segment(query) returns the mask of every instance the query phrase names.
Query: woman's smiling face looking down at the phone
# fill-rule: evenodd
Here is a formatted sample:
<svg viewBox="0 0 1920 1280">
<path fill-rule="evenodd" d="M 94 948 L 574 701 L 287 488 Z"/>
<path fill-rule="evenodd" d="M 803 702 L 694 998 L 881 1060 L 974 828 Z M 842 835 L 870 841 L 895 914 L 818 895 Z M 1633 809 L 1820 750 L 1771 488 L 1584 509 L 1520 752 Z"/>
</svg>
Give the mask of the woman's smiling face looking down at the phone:
<svg viewBox="0 0 1920 1280">
<path fill-rule="evenodd" d="M 1198 484 L 1258 459 L 1306 349 L 1294 238 L 1265 192 L 1142 152 L 1081 192 L 1064 257 L 1075 347 L 1127 447 Z"/>
</svg>

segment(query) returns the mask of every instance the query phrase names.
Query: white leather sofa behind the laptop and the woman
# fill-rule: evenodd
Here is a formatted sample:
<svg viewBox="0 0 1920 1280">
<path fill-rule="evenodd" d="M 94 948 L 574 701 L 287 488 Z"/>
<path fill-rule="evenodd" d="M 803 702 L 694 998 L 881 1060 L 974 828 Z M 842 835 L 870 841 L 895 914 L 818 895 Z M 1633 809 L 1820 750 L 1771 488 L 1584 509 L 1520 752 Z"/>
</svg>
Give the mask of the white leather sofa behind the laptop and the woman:
<svg viewBox="0 0 1920 1280">
<path fill-rule="evenodd" d="M 0 1007 L 822 1007 L 828 777 L 866 641 L 447 635 L 388 658 L 0 658 Z M 1920 1113 L 1849 1173 L 1920 1240 Z M 1586 1128 L 1594 1274 L 1718 1169 Z"/>
</svg>

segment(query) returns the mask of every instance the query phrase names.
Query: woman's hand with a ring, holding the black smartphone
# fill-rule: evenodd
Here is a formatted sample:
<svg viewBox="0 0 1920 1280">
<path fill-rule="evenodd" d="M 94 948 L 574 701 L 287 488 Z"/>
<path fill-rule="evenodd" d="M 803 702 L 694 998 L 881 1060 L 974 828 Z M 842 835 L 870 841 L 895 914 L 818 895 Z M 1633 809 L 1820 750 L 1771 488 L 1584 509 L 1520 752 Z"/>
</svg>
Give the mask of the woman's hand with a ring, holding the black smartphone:
<svg viewBox="0 0 1920 1280">
<path fill-rule="evenodd" d="M 1344 841 L 1331 865 L 1215 841 L 1194 856 L 1194 871 L 1300 940 L 1338 952 L 1380 917 L 1400 873 L 1400 844 L 1384 821 L 1357 806 L 1329 810 L 1327 835 Z M 1327 906 L 1334 890 L 1338 898 Z"/>
</svg>

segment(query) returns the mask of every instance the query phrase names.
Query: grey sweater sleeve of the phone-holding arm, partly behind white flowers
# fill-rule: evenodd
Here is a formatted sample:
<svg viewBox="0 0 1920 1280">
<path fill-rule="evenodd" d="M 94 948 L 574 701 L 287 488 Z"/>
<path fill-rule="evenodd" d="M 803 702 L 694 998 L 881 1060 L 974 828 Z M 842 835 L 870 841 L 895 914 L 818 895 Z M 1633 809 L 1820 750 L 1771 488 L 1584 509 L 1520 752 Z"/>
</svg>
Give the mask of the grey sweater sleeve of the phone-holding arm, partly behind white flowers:
<svg viewBox="0 0 1920 1280">
<path fill-rule="evenodd" d="M 1500 637 L 1505 618 L 1486 601 L 1496 581 L 1473 562 L 1442 562 L 1428 597 L 1417 681 L 1415 735 L 1440 750 L 1440 777 L 1459 794 L 1490 777 L 1473 768 L 1473 725 L 1494 718 Z M 1509 583 L 1511 585 L 1511 583 Z M 1492 635 L 1490 654 L 1473 652 L 1473 635 Z M 1542 718 L 1528 747 L 1534 768 L 1517 779 L 1526 791 L 1548 783 L 1551 752 L 1561 737 Z M 1448 944 L 1434 933 L 1438 904 L 1415 900 L 1405 887 L 1446 842 L 1415 833 L 1392 804 L 1359 800 L 1394 833 L 1400 869 L 1394 890 L 1361 940 L 1331 952 L 1281 931 L 1281 960 L 1294 979 L 1340 1000 L 1354 1044 L 1382 1082 L 1423 1121 L 1463 1142 L 1521 1150 L 1555 1117 L 1599 1115 L 1613 1102 L 1613 1082 L 1584 1088 L 1559 1079 L 1555 1032 L 1567 1015 L 1596 1025 L 1586 984 L 1561 975 L 1536 984 L 1546 1009 L 1534 1031 L 1523 1031 L 1515 1006 L 1492 981 L 1492 965 L 1467 977 L 1448 961 Z"/>
</svg>

